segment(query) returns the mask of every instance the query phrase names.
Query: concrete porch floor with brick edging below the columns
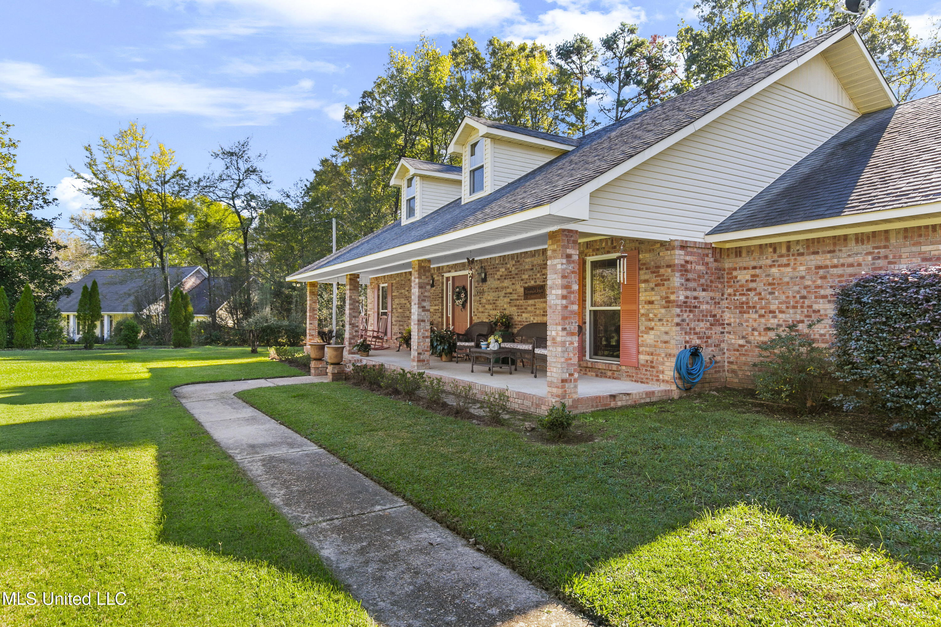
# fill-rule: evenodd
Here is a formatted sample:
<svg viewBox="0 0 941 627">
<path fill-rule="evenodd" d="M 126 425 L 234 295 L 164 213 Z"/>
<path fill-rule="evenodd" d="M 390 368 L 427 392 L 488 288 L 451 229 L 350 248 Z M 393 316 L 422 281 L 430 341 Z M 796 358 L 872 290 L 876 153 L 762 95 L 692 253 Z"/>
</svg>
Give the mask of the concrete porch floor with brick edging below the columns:
<svg viewBox="0 0 941 627">
<path fill-rule="evenodd" d="M 370 353 L 369 357 L 351 356 L 349 359 L 357 363 L 381 363 L 387 368 L 412 369 L 411 354 L 405 348 L 399 352 L 378 350 Z M 430 360 L 427 367 L 418 370 L 424 372 L 426 377 L 441 378 L 445 385 L 452 389 L 455 385 L 470 383 L 477 397 L 509 389 L 507 394 L 510 397 L 510 406 L 518 411 L 545 413 L 557 402 L 550 399 L 545 370 L 538 371 L 539 377 L 533 378 L 528 367 L 520 366 L 519 370 L 513 374 L 509 373 L 508 368 L 497 368 L 494 369 L 493 377 L 491 377 L 486 363 L 477 363 L 474 366 L 474 372 L 470 372 L 470 362 L 441 362 L 435 357 Z M 567 407 L 573 412 L 605 410 L 665 398 L 677 398 L 679 394 L 676 389 L 580 375 L 578 397 L 569 399 Z"/>
</svg>

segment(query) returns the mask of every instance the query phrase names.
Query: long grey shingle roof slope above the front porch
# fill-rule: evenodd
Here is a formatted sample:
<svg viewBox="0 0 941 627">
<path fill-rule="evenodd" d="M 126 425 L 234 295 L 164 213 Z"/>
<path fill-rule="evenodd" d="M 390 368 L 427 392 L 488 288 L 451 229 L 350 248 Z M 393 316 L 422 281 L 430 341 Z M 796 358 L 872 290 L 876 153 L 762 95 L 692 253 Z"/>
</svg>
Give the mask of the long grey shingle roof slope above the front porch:
<svg viewBox="0 0 941 627">
<path fill-rule="evenodd" d="M 662 104 L 651 106 L 630 118 L 600 128 L 577 140 L 578 146 L 575 149 L 560 154 L 483 198 L 464 204 L 461 204 L 460 199 L 456 199 L 417 220 L 406 224 L 401 221 L 393 222 L 298 270 L 295 274 L 352 261 L 556 201 L 699 120 L 841 32 L 846 31 L 832 30 L 812 40 L 806 40 L 747 68 L 726 74 Z M 477 118 L 474 120 L 495 127 L 499 124 Z M 510 130 L 519 132 L 515 126 Z"/>
</svg>

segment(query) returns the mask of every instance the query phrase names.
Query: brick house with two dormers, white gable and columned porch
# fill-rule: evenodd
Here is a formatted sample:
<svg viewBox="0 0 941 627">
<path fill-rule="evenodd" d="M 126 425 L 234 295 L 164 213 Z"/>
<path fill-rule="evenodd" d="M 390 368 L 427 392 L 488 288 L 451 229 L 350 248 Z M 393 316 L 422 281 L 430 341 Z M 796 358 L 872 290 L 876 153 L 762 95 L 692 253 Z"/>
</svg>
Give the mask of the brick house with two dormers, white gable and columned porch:
<svg viewBox="0 0 941 627">
<path fill-rule="evenodd" d="M 400 220 L 288 279 L 368 283 L 369 324 L 410 327 L 416 369 L 429 325 L 548 323 L 546 394 L 519 407 L 657 396 L 580 394 L 598 378 L 666 394 L 692 345 L 716 356 L 703 387 L 749 386 L 767 327 L 941 262 L 941 95 L 899 104 L 849 25 L 581 138 L 468 117 L 448 152 L 463 167 L 402 159 Z"/>
</svg>

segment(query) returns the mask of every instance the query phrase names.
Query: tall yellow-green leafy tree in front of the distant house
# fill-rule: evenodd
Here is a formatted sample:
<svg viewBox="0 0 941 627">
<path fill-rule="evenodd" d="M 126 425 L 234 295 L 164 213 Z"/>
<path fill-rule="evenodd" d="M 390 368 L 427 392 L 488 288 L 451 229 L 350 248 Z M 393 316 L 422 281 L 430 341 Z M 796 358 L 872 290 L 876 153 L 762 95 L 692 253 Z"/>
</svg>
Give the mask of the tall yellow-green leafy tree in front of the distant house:
<svg viewBox="0 0 941 627">
<path fill-rule="evenodd" d="M 173 151 L 158 143 L 149 152 L 147 129 L 135 122 L 113 139 L 101 137 L 98 150 L 85 147 L 88 174 L 71 168 L 97 204 L 96 214 L 73 220 L 89 240 L 100 236 L 105 257 L 139 260 L 160 268 L 165 308 L 169 307 L 170 255 L 186 212 L 189 180 Z M 132 265 L 137 265 L 132 261 Z M 167 310 L 165 309 L 165 312 Z"/>
</svg>

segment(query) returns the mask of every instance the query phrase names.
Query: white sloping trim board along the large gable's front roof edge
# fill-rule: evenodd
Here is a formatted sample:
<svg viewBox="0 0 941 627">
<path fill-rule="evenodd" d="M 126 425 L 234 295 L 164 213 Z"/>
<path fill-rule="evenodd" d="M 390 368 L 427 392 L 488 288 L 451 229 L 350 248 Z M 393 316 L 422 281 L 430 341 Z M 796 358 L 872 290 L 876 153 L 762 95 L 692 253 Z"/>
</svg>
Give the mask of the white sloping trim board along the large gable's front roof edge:
<svg viewBox="0 0 941 627">
<path fill-rule="evenodd" d="M 749 98 L 757 94 L 762 89 L 768 88 L 770 85 L 779 81 L 781 78 L 783 78 L 790 72 L 793 72 L 797 68 L 801 67 L 813 57 L 820 55 L 824 50 L 826 50 L 830 46 L 836 44 L 839 41 L 845 40 L 847 37 L 854 35 L 850 24 L 843 26 L 840 30 L 845 31 L 845 33 L 834 35 L 832 38 L 830 38 L 830 40 L 824 41 L 813 50 L 807 52 L 804 56 L 800 56 L 794 59 L 788 65 L 784 66 L 777 72 L 774 72 L 773 74 L 771 74 L 764 80 L 759 81 L 758 83 L 753 85 L 751 88 L 745 89 L 738 96 L 735 96 L 734 98 L 730 98 L 725 103 L 720 104 L 719 106 L 714 108 L 712 111 L 710 111 L 710 113 L 706 114 L 705 116 L 699 118 L 696 121 L 691 122 L 690 124 L 687 124 L 683 128 L 679 129 L 673 135 L 669 137 L 664 137 L 662 140 L 660 140 L 653 146 L 646 148 L 646 150 L 642 151 L 641 153 L 635 154 L 634 156 L 630 157 L 630 159 L 628 159 L 627 161 L 624 161 L 618 164 L 617 166 L 615 166 L 614 168 L 609 169 L 607 172 L 604 172 L 603 174 L 598 175 L 597 177 L 595 177 L 588 183 L 573 189 L 562 198 L 556 201 L 553 201 L 550 205 L 551 209 L 553 211 L 566 211 L 568 210 L 569 206 L 573 204 L 587 205 L 589 196 L 591 195 L 593 191 L 598 189 L 598 187 L 611 183 L 617 177 L 622 176 L 623 174 L 627 173 L 631 169 L 634 169 L 640 164 L 644 163 L 648 159 L 651 159 L 657 154 L 662 153 L 664 150 L 666 150 L 670 146 L 673 146 L 678 141 L 684 139 L 685 137 L 689 137 L 690 135 L 702 129 L 704 126 L 706 126 L 710 122 L 715 121 L 717 118 L 719 118 L 722 115 L 725 115 L 731 109 L 735 108 L 739 104 L 742 104 L 743 102 L 745 102 L 746 100 L 748 100 Z M 859 36 L 855 35 L 855 37 L 856 37 L 856 40 L 859 42 L 859 44 L 862 45 L 862 40 L 859 39 Z M 867 50 L 866 46 L 862 45 L 862 48 L 864 51 L 866 51 L 867 56 L 869 56 L 869 58 L 871 59 L 871 55 L 869 55 L 869 51 Z M 880 76 L 881 75 L 882 74 L 880 73 Z M 885 79 L 884 79 L 884 82 L 885 82 Z M 888 88 L 887 85 L 885 85 L 885 87 Z M 892 90 L 888 89 L 888 93 L 891 94 Z M 892 95 L 892 98 L 894 99 L 895 96 Z M 893 102 L 897 102 L 897 101 L 893 101 Z"/>
</svg>

